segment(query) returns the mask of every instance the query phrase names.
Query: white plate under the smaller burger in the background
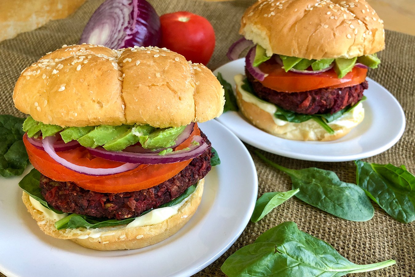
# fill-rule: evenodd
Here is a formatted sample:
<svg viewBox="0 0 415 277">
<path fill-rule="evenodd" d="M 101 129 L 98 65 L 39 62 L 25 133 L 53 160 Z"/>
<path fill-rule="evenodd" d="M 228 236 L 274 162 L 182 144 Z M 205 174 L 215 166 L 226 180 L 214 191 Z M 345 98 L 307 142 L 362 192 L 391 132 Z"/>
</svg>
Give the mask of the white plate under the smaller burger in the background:
<svg viewBox="0 0 415 277">
<path fill-rule="evenodd" d="M 244 74 L 244 59 L 231 61 L 214 71 L 220 72 L 232 87 L 234 76 Z M 284 157 L 316 162 L 346 162 L 382 153 L 400 139 L 405 130 L 405 115 L 395 97 L 370 78 L 367 100 L 363 102 L 362 123 L 344 137 L 328 142 L 287 140 L 270 135 L 251 125 L 242 114 L 228 111 L 217 120 L 244 142 Z"/>
</svg>

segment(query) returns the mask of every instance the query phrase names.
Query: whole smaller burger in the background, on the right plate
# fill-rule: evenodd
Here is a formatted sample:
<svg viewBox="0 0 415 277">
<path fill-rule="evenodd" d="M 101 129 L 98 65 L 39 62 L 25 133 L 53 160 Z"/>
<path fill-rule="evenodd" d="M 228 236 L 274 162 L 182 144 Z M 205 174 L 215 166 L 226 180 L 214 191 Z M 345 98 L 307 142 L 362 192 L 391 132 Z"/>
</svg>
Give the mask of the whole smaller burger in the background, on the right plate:
<svg viewBox="0 0 415 277">
<path fill-rule="evenodd" d="M 364 118 L 368 68 L 383 21 L 364 0 L 258 1 L 244 13 L 232 59 L 254 44 L 237 104 L 257 127 L 292 140 L 335 140 Z"/>
</svg>

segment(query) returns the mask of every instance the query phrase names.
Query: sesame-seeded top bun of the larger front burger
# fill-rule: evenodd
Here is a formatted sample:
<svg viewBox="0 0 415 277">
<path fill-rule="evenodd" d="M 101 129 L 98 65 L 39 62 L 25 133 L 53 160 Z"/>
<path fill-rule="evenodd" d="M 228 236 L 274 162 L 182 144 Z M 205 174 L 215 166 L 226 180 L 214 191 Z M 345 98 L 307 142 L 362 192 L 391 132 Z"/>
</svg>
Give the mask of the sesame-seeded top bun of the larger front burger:
<svg viewBox="0 0 415 277">
<path fill-rule="evenodd" d="M 64 45 L 22 71 L 13 101 L 46 124 L 161 128 L 210 120 L 225 103 L 212 72 L 180 54 L 90 44 Z"/>
</svg>

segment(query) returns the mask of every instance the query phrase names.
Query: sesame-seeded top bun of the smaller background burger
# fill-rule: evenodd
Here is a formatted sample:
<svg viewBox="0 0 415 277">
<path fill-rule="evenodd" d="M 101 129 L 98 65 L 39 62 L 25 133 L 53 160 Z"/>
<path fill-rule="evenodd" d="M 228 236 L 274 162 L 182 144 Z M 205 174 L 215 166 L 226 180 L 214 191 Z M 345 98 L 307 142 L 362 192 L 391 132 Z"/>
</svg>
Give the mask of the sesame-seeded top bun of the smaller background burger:
<svg viewBox="0 0 415 277">
<path fill-rule="evenodd" d="M 364 0 L 259 0 L 239 33 L 268 56 L 353 58 L 385 47 L 383 21 Z"/>
</svg>

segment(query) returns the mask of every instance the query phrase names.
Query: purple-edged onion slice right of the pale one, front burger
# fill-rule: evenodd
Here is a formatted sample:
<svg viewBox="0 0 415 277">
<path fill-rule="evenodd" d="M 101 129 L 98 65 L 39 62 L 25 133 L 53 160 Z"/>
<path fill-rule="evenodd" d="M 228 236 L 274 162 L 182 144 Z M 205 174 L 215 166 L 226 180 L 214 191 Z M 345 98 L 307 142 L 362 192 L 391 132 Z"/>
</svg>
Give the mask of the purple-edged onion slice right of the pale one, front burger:
<svg viewBox="0 0 415 277">
<path fill-rule="evenodd" d="M 195 136 L 190 146 L 183 150 L 173 151 L 165 155 L 158 153 L 131 153 L 124 151 L 107 151 L 102 147 L 87 148 L 95 157 L 108 159 L 115 162 L 127 162 L 137 164 L 171 164 L 183 162 L 198 157 L 207 149 L 209 145 L 200 136 Z"/>
</svg>

